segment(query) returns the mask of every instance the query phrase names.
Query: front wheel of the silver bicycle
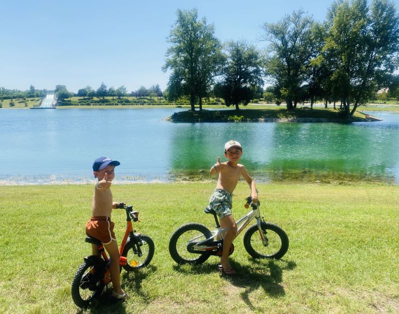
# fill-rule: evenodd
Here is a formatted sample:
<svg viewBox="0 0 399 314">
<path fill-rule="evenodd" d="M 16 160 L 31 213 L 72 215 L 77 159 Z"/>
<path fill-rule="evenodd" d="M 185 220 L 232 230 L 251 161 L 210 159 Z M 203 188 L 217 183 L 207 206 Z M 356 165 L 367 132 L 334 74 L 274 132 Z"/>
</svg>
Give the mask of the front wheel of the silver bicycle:
<svg viewBox="0 0 399 314">
<path fill-rule="evenodd" d="M 288 250 L 288 236 L 285 231 L 270 222 L 262 222 L 261 226 L 267 245 L 263 245 L 258 226 L 254 224 L 245 232 L 245 250 L 254 258 L 279 259 L 283 257 Z"/>
</svg>

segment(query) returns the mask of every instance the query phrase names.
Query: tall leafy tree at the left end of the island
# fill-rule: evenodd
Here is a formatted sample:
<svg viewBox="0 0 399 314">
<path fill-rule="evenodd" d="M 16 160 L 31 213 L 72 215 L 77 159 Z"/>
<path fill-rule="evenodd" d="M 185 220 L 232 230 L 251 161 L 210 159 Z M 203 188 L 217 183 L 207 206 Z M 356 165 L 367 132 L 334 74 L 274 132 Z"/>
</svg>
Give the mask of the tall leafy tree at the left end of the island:
<svg viewBox="0 0 399 314">
<path fill-rule="evenodd" d="M 214 36 L 214 26 L 206 24 L 204 17 L 199 20 L 197 9 L 178 9 L 167 41 L 172 46 L 166 52 L 163 71 L 172 70 L 169 98 L 188 96 L 193 111 L 198 98 L 201 110 L 202 98 L 209 95 L 213 78 L 224 61 L 221 44 Z"/>
</svg>

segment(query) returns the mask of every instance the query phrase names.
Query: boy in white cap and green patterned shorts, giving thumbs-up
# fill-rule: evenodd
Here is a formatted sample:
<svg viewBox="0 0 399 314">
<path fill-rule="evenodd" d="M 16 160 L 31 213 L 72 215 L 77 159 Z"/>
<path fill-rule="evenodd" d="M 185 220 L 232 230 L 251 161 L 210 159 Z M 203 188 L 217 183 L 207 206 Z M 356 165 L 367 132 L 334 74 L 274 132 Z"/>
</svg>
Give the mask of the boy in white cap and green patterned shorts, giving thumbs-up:
<svg viewBox="0 0 399 314">
<path fill-rule="evenodd" d="M 215 210 L 220 219 L 220 227 L 227 228 L 223 237 L 223 251 L 220 257 L 220 270 L 226 275 L 235 273 L 228 261 L 229 250 L 231 242 L 237 232 L 237 225 L 233 218 L 231 209 L 232 193 L 237 186 L 240 176 L 242 176 L 251 188 L 252 202 L 258 201 L 256 194 L 255 181 L 248 175 L 245 167 L 238 163 L 242 156 L 241 144 L 237 141 L 231 140 L 224 145 L 224 157 L 228 159 L 227 162 L 220 162 L 220 157 L 217 157 L 217 162 L 210 168 L 211 175 L 218 173 L 216 189 L 213 191 L 209 199 L 209 206 Z"/>
</svg>

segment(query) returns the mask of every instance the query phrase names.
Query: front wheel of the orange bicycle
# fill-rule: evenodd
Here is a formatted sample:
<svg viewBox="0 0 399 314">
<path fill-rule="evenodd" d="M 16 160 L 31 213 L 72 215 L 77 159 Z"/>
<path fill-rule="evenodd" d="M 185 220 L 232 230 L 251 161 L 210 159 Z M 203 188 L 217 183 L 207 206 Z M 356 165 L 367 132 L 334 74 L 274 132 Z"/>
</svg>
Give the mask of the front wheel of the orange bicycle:
<svg viewBox="0 0 399 314">
<path fill-rule="evenodd" d="M 127 272 L 148 266 L 154 256 L 154 241 L 145 234 L 137 235 L 137 238 L 142 244 L 140 245 L 140 250 L 143 255 L 138 256 L 137 245 L 139 245 L 139 243 L 134 243 L 134 241 L 131 241 L 126 244 L 125 248 L 123 249 L 122 256 L 127 257 L 128 261 L 127 264 L 122 267 Z"/>
</svg>

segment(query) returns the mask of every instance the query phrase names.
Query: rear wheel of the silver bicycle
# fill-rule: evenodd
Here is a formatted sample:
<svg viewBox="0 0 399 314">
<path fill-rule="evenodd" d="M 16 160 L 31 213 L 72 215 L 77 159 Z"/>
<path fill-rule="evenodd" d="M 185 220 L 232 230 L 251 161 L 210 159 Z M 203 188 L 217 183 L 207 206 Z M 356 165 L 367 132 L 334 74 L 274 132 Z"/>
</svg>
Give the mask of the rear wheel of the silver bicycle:
<svg viewBox="0 0 399 314">
<path fill-rule="evenodd" d="M 178 264 L 201 264 L 209 258 L 209 254 L 191 253 L 188 246 L 211 236 L 212 233 L 203 224 L 186 223 L 172 234 L 169 253 Z"/>
</svg>

